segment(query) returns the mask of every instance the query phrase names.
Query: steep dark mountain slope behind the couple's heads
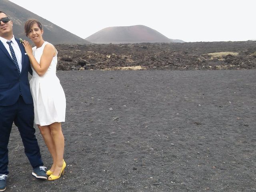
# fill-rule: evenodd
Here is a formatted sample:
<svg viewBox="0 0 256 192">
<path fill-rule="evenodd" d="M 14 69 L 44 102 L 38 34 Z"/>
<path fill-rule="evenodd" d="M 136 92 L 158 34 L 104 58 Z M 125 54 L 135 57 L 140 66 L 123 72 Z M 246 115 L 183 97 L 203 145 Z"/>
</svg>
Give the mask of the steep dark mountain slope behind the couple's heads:
<svg viewBox="0 0 256 192">
<path fill-rule="evenodd" d="M 35 2 L 38 3 L 38 2 Z M 44 40 L 52 44 L 89 44 L 90 42 L 80 38 L 67 30 L 60 28 L 52 22 L 8 1 L 0 0 L 0 10 L 5 12 L 13 22 L 14 36 L 28 39 L 24 34 L 24 24 L 28 19 L 37 19 L 44 29 Z"/>
</svg>

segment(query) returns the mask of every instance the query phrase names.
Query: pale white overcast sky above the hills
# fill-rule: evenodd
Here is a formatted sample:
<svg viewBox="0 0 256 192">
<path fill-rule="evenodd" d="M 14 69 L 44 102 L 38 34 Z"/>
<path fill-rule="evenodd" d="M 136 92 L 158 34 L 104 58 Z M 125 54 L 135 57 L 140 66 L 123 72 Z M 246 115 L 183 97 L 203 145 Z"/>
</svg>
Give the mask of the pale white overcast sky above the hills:
<svg viewBox="0 0 256 192">
<path fill-rule="evenodd" d="M 256 0 L 10 0 L 86 38 L 111 26 L 145 25 L 171 39 L 256 39 Z"/>
</svg>

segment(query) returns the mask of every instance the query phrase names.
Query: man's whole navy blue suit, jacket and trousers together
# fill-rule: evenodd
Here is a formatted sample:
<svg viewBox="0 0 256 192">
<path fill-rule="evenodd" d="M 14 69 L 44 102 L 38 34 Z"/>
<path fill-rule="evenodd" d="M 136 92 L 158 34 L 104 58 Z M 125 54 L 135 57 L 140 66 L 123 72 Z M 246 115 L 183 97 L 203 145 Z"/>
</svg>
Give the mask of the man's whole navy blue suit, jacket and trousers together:
<svg viewBox="0 0 256 192">
<path fill-rule="evenodd" d="M 24 46 L 16 39 L 22 53 L 22 71 L 0 41 L 0 174 L 8 174 L 8 142 L 12 124 L 18 127 L 25 154 L 33 168 L 42 166 L 34 129 L 33 99 L 28 82 L 30 61 Z M 21 95 L 20 95 L 21 93 Z"/>
</svg>

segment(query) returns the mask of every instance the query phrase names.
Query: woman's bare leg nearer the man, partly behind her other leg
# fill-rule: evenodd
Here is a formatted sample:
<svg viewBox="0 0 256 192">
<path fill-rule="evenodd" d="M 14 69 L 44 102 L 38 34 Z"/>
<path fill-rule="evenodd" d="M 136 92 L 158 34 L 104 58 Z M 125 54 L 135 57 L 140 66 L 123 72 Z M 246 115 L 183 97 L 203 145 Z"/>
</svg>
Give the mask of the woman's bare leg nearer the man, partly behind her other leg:
<svg viewBox="0 0 256 192">
<path fill-rule="evenodd" d="M 38 128 L 44 138 L 44 142 L 50 152 L 50 154 L 52 155 L 52 160 L 53 160 L 53 163 L 52 163 L 52 167 L 50 168 L 50 171 L 54 171 L 54 168 L 56 166 L 56 147 L 55 147 L 55 144 L 54 144 L 54 141 L 53 141 L 53 138 L 52 138 L 52 133 L 51 133 L 51 130 L 50 130 L 50 127 L 47 125 L 47 126 L 40 126 L 38 125 Z"/>
</svg>

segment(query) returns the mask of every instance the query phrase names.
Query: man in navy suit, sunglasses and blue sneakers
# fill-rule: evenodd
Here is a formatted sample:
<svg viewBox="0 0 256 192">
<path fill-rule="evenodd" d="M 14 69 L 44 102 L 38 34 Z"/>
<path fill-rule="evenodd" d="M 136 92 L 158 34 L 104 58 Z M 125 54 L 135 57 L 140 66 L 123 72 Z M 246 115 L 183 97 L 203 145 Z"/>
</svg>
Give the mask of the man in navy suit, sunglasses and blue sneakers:
<svg viewBox="0 0 256 192">
<path fill-rule="evenodd" d="M 18 127 L 32 174 L 47 179 L 34 129 L 34 107 L 28 82 L 30 61 L 14 38 L 12 21 L 0 11 L 0 192 L 6 189 L 8 142 L 12 124 Z M 31 70 L 31 68 L 30 68 Z"/>
</svg>

